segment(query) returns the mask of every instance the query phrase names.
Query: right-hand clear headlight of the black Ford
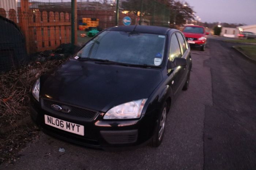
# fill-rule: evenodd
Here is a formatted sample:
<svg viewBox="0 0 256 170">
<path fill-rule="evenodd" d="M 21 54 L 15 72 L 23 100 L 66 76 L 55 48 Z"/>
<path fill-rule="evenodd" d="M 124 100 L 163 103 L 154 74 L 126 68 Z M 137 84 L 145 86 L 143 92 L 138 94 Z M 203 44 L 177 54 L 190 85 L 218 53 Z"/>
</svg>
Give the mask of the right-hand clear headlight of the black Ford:
<svg viewBox="0 0 256 170">
<path fill-rule="evenodd" d="M 142 109 L 147 101 L 147 98 L 131 101 L 113 107 L 104 115 L 103 119 L 136 119 L 140 118 Z"/>
</svg>

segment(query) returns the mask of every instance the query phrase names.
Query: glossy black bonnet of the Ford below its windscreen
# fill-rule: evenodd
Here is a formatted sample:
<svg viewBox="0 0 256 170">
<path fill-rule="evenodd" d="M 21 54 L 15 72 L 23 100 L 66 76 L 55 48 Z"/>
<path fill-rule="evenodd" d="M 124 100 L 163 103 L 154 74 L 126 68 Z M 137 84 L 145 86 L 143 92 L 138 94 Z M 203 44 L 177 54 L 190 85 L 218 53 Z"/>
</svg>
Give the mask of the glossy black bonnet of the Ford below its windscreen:
<svg viewBox="0 0 256 170">
<path fill-rule="evenodd" d="M 163 80 L 160 70 L 70 60 L 41 77 L 40 96 L 106 112 L 148 98 Z"/>
</svg>

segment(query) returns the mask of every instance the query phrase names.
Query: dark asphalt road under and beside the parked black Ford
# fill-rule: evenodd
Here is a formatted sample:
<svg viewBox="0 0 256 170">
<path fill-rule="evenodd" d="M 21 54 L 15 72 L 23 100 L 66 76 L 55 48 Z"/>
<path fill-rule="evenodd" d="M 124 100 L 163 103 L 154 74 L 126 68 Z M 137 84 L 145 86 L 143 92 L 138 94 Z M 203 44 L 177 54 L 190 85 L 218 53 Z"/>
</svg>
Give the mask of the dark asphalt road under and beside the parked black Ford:
<svg viewBox="0 0 256 170">
<path fill-rule="evenodd" d="M 109 152 L 41 133 L 0 169 L 255 169 L 256 63 L 231 46 L 209 36 L 205 51 L 192 49 L 190 86 L 167 115 L 160 147 Z"/>
</svg>

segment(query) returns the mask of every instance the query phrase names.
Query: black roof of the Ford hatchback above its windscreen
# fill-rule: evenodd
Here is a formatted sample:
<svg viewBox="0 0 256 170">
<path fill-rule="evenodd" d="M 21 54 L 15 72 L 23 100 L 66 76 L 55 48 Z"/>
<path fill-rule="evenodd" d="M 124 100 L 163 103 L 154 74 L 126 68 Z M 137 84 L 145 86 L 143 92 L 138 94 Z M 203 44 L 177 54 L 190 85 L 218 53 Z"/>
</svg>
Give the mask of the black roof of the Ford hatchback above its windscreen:
<svg viewBox="0 0 256 170">
<path fill-rule="evenodd" d="M 158 27 L 158 26 L 141 26 L 141 25 L 132 25 L 132 26 L 116 26 L 108 28 L 110 31 L 134 31 L 134 32 L 143 32 L 148 34 L 168 34 L 170 30 L 175 30 L 167 27 Z M 177 31 L 177 30 L 176 30 Z"/>
</svg>

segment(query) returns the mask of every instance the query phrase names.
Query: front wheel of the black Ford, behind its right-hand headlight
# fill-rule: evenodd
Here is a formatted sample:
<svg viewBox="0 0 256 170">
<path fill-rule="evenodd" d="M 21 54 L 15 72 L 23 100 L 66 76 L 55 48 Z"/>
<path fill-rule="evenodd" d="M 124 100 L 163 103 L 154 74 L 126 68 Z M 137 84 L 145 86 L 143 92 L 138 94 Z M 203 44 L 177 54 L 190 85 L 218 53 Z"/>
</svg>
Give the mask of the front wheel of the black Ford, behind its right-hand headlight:
<svg viewBox="0 0 256 170">
<path fill-rule="evenodd" d="M 168 107 L 167 107 L 167 103 L 165 102 L 165 104 L 161 109 L 161 114 L 159 114 L 159 117 L 158 117 L 157 128 L 155 130 L 155 134 L 151 142 L 152 147 L 158 147 L 162 143 L 163 134 L 165 132 L 165 126 L 166 126 L 167 112 L 168 112 Z"/>
</svg>

